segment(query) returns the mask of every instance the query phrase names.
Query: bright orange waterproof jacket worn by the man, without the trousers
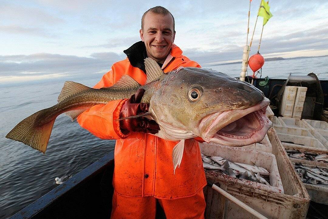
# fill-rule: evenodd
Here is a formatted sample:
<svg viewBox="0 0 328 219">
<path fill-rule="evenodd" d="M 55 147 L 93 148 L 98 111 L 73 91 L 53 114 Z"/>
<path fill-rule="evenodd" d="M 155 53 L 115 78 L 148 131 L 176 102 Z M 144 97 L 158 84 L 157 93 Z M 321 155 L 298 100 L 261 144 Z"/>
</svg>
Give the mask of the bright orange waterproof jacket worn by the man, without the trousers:
<svg viewBox="0 0 328 219">
<path fill-rule="evenodd" d="M 170 72 L 179 66 L 200 67 L 182 55 L 173 45 L 162 69 Z M 122 75 L 129 75 L 145 84 L 146 74 L 133 67 L 128 58 L 116 62 L 94 88 L 112 86 Z M 188 139 L 179 168 L 173 173 L 172 150 L 178 142 L 167 141 L 151 134 L 131 132 L 124 135 L 119 128 L 119 113 L 126 100 L 113 100 L 92 106 L 78 118 L 78 123 L 101 139 L 117 139 L 114 150 L 113 186 L 123 196 L 154 196 L 176 199 L 193 196 L 206 185 L 198 142 Z"/>
</svg>

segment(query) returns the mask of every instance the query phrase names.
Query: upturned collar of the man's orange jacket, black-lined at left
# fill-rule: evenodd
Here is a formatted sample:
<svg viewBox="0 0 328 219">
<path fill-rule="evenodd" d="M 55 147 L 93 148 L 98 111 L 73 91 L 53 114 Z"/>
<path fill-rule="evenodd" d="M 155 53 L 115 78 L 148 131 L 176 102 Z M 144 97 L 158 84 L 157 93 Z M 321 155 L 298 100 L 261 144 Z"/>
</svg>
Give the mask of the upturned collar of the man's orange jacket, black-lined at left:
<svg viewBox="0 0 328 219">
<path fill-rule="evenodd" d="M 126 56 L 130 61 L 130 64 L 133 67 L 139 68 L 146 73 L 146 68 L 144 63 L 144 59 L 146 58 L 144 56 L 145 51 L 146 51 L 145 43 L 139 41 L 134 43 L 130 48 L 124 50 L 123 53 L 126 54 Z M 169 61 L 171 61 L 173 57 L 177 58 L 181 56 L 182 56 L 182 50 L 179 47 L 177 47 L 175 44 L 172 44 L 171 52 L 166 58 L 162 68 L 164 68 L 169 63 Z"/>
</svg>

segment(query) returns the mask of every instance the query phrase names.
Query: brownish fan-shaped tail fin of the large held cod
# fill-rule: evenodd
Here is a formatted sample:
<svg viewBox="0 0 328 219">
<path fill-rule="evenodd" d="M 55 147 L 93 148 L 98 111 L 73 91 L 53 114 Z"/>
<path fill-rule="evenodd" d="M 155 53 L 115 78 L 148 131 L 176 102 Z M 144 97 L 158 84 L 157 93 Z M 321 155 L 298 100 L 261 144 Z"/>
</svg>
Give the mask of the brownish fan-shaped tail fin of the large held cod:
<svg viewBox="0 0 328 219">
<path fill-rule="evenodd" d="M 45 153 L 51 135 L 52 126 L 56 118 L 41 126 L 35 124 L 37 124 L 36 121 L 38 121 L 48 110 L 49 109 L 40 110 L 22 120 L 6 135 L 6 138 L 22 142 L 31 146 L 33 149 Z"/>
</svg>

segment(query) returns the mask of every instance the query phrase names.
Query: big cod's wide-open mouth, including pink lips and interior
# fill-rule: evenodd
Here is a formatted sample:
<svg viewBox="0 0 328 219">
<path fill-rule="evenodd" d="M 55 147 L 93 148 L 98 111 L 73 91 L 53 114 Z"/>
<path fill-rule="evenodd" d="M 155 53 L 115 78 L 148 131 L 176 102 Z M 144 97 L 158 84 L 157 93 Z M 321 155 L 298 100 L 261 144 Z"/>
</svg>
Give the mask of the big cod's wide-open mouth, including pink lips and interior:
<svg viewBox="0 0 328 219">
<path fill-rule="evenodd" d="M 211 114 L 200 122 L 204 141 L 228 146 L 245 146 L 260 142 L 272 122 L 266 116 L 270 100 L 264 98 L 255 106 L 242 110 L 229 110 Z M 203 128 L 202 128 L 203 127 Z"/>
</svg>

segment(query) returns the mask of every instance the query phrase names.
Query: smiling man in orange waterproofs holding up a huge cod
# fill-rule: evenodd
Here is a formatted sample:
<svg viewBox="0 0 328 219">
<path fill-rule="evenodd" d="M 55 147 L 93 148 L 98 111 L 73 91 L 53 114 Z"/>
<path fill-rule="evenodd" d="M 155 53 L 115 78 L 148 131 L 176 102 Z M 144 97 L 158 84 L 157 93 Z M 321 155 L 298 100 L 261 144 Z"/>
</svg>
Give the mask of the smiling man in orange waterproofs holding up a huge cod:
<svg viewBox="0 0 328 219">
<path fill-rule="evenodd" d="M 146 57 L 153 58 L 165 73 L 180 66 L 200 67 L 173 44 L 174 17 L 167 9 L 157 6 L 144 13 L 140 37 L 142 41 L 125 50 L 127 58 L 113 64 L 95 88 L 112 86 L 122 75 L 145 84 Z M 142 95 L 138 90 L 130 99 L 95 105 L 77 119 L 95 136 L 117 139 L 112 218 L 154 218 L 156 201 L 168 219 L 204 218 L 206 179 L 198 143 L 186 140 L 189 146 L 174 174 L 172 150 L 177 142 L 149 134 L 159 130 L 154 120 L 117 120 L 147 112 L 148 105 L 140 103 Z"/>
</svg>

